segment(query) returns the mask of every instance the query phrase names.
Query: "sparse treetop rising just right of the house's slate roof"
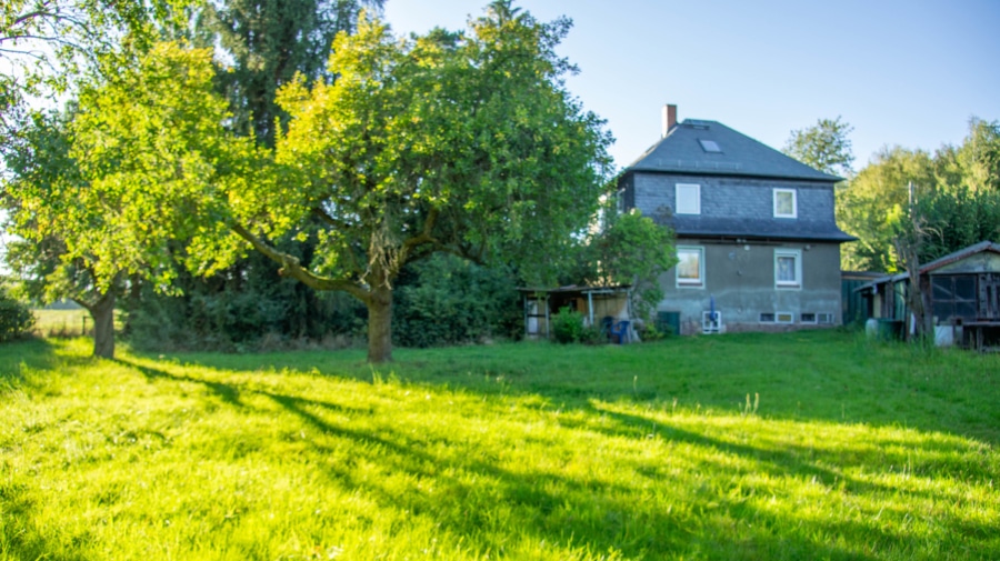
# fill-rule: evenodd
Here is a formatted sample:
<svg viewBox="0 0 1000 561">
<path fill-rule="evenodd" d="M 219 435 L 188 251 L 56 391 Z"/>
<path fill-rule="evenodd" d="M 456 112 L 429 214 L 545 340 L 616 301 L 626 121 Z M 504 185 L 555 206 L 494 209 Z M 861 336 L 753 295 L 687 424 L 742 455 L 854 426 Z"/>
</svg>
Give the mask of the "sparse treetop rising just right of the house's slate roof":
<svg viewBox="0 0 1000 561">
<path fill-rule="evenodd" d="M 854 154 L 847 121 L 820 119 L 812 127 L 793 130 L 784 144 L 784 153 L 824 173 L 850 177 Z"/>
</svg>

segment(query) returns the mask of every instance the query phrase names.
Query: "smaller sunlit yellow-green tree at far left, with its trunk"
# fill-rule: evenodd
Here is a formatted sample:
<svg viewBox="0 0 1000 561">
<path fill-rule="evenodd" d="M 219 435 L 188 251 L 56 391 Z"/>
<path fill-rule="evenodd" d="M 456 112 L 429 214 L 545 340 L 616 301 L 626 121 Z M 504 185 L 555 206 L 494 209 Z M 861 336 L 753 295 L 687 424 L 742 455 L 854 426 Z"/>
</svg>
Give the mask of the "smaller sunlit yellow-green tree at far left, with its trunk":
<svg viewBox="0 0 1000 561">
<path fill-rule="evenodd" d="M 126 279 L 170 290 L 171 241 L 198 231 L 162 218 L 199 208 L 206 184 L 252 178 L 232 170 L 252 157 L 252 141 L 218 133 L 226 103 L 211 89 L 209 57 L 158 46 L 137 69 L 82 87 L 68 114 L 36 114 L 7 153 L 3 202 L 22 240 L 9 260 L 37 294 L 90 311 L 94 355 L 114 354 Z"/>
</svg>

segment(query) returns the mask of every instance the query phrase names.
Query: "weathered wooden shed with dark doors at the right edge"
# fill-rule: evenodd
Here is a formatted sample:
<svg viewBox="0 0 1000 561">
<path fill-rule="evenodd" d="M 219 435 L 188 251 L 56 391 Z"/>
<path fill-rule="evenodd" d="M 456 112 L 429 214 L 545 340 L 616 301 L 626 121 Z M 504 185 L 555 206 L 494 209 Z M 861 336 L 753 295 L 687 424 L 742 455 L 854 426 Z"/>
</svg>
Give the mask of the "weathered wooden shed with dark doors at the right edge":
<svg viewBox="0 0 1000 561">
<path fill-rule="evenodd" d="M 919 268 L 923 305 L 940 345 L 982 349 L 1000 344 L 1000 244 L 982 241 Z M 909 273 L 884 276 L 858 289 L 877 321 L 902 327 Z"/>
</svg>

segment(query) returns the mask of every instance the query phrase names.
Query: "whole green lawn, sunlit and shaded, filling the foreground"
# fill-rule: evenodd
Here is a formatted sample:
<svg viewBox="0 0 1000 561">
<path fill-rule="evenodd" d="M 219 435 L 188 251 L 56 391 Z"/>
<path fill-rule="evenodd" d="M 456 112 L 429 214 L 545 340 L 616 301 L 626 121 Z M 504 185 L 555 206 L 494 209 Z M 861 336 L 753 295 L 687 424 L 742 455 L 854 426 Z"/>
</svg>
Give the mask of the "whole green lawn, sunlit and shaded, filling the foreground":
<svg viewBox="0 0 1000 561">
<path fill-rule="evenodd" d="M 1000 355 L 89 350 L 0 347 L 0 559 L 1000 559 Z"/>
</svg>

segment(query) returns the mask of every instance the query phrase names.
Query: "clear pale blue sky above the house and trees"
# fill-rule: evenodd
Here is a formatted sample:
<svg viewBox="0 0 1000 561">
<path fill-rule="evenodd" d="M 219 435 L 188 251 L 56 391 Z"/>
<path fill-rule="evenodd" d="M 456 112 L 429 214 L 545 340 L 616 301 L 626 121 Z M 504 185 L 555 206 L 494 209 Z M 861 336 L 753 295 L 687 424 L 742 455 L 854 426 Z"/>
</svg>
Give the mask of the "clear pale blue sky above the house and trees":
<svg viewBox="0 0 1000 561">
<path fill-rule="evenodd" d="M 386 0 L 397 33 L 463 28 L 486 0 Z M 660 109 L 720 121 L 781 149 L 841 116 L 854 169 L 883 146 L 958 144 L 972 116 L 1000 120 L 1000 0 L 520 0 L 573 29 L 567 86 L 608 120 L 627 166 L 659 139 Z"/>
</svg>

